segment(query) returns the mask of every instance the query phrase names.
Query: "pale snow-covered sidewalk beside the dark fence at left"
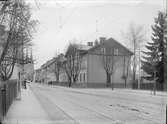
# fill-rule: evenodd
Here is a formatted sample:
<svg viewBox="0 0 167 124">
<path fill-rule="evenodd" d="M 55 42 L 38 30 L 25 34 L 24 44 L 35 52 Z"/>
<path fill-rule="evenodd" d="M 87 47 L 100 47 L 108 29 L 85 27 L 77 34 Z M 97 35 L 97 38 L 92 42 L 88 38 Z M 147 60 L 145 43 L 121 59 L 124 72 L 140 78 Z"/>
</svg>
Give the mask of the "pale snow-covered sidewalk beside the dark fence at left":
<svg viewBox="0 0 167 124">
<path fill-rule="evenodd" d="M 15 100 L 3 124 L 50 124 L 49 117 L 32 93 L 29 86 L 22 89 L 21 100 Z"/>
</svg>

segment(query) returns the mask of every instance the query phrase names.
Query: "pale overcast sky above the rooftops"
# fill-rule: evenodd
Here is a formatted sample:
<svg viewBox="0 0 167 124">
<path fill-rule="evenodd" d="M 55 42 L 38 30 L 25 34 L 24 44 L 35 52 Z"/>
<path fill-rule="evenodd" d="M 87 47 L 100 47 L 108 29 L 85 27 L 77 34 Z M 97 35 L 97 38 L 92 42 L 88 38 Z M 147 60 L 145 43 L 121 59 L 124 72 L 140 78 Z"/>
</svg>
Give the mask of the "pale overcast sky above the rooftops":
<svg viewBox="0 0 167 124">
<path fill-rule="evenodd" d="M 151 37 L 151 25 L 158 11 L 165 11 L 165 0 L 28 0 L 32 18 L 39 21 L 33 38 L 35 68 L 57 53 L 64 53 L 69 42 L 87 44 L 99 37 L 114 38 L 129 47 L 124 34 L 130 24 L 142 25 Z"/>
</svg>

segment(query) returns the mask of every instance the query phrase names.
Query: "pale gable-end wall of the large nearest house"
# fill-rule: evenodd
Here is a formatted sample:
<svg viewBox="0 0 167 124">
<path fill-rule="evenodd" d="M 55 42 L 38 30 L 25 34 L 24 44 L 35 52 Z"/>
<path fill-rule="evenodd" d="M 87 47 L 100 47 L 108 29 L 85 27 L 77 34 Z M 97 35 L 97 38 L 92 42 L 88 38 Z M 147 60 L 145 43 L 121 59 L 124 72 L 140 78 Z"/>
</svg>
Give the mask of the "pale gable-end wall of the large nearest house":
<svg viewBox="0 0 167 124">
<path fill-rule="evenodd" d="M 92 84 L 99 87 L 105 87 L 106 85 L 106 72 L 104 70 L 102 64 L 102 56 L 99 55 L 101 48 L 106 48 L 107 54 L 113 55 L 112 49 L 118 48 L 119 49 L 119 56 L 115 56 L 115 64 L 114 64 L 114 74 L 113 74 L 113 82 L 114 87 L 125 87 L 125 80 L 122 78 L 123 71 L 124 71 L 124 55 L 129 55 L 128 51 L 117 44 L 116 42 L 107 42 L 106 44 L 101 45 L 100 47 L 91 51 L 91 53 L 87 57 L 88 61 L 88 85 Z M 125 57 L 125 69 L 127 67 L 128 59 L 130 59 L 130 55 Z M 129 67 L 130 68 L 130 67 Z M 130 74 L 130 69 L 128 70 Z M 132 87 L 130 76 L 127 79 L 127 87 Z"/>
</svg>

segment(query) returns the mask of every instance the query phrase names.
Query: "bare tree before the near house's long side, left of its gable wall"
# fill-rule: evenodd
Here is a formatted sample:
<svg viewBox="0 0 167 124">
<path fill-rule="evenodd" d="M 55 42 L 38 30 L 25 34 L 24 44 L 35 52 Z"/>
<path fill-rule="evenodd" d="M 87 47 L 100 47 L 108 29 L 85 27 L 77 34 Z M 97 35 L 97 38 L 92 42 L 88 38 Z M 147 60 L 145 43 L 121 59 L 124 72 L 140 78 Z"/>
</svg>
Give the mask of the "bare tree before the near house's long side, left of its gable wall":
<svg viewBox="0 0 167 124">
<path fill-rule="evenodd" d="M 69 87 L 71 87 L 72 83 L 78 80 L 81 69 L 81 56 L 77 44 L 69 44 L 65 57 L 64 70 L 68 77 Z"/>
</svg>

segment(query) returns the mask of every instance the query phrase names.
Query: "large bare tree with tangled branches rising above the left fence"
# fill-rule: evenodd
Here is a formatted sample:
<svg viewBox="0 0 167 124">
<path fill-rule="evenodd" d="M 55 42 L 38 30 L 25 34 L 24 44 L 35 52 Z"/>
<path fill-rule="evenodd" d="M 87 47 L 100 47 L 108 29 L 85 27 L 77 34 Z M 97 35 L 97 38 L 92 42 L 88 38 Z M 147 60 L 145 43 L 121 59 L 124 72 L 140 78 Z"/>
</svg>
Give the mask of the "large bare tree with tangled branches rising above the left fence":
<svg viewBox="0 0 167 124">
<path fill-rule="evenodd" d="M 12 76 L 15 63 L 24 63 L 18 53 L 23 54 L 24 47 L 30 45 L 37 21 L 31 20 L 30 7 L 22 0 L 4 1 L 0 6 L 0 22 L 7 28 L 7 37 L 1 41 L 0 77 L 6 81 Z"/>
</svg>

